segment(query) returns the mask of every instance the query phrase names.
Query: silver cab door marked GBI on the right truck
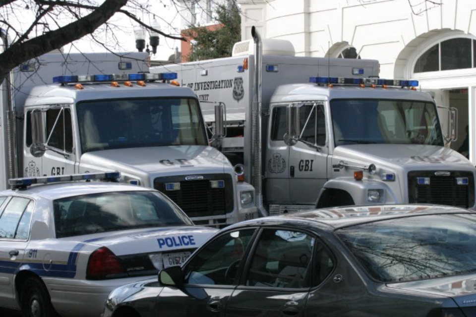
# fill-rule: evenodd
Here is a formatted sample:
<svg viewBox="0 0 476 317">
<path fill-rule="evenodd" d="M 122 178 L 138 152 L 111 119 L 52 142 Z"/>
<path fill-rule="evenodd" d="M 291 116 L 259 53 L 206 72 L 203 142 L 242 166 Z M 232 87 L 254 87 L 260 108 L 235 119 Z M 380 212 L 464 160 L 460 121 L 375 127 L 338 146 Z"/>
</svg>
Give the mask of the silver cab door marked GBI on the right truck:
<svg viewBox="0 0 476 317">
<path fill-rule="evenodd" d="M 323 104 L 309 103 L 299 111 L 300 140 L 289 149 L 291 203 L 314 205 L 327 181 L 326 120 Z M 307 143 L 307 144 L 306 144 Z"/>
</svg>

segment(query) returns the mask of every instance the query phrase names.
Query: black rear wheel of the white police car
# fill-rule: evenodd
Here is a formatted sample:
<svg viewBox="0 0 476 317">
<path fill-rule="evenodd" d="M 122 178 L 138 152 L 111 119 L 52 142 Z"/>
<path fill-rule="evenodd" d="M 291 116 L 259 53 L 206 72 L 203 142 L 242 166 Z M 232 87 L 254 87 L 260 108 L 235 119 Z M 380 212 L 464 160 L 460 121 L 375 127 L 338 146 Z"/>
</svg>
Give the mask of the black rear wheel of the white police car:
<svg viewBox="0 0 476 317">
<path fill-rule="evenodd" d="M 20 309 L 23 317 L 57 316 L 50 294 L 41 280 L 29 277 L 21 288 Z"/>
</svg>

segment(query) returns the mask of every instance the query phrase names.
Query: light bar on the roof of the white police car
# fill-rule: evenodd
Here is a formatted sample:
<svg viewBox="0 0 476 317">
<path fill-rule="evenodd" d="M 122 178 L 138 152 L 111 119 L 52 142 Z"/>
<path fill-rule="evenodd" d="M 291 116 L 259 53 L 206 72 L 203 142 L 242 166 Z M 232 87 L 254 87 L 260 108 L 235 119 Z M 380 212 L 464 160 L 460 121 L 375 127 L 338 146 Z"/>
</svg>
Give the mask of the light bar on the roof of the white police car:
<svg viewBox="0 0 476 317">
<path fill-rule="evenodd" d="M 58 175 L 58 176 L 44 176 L 44 177 L 23 177 L 23 178 L 11 178 L 8 180 L 8 184 L 12 186 L 12 189 L 24 189 L 33 184 L 51 184 L 60 182 L 71 181 L 110 181 L 118 182 L 120 178 L 120 172 L 108 171 L 102 173 L 85 173 L 85 174 L 71 174 L 71 175 Z"/>
</svg>

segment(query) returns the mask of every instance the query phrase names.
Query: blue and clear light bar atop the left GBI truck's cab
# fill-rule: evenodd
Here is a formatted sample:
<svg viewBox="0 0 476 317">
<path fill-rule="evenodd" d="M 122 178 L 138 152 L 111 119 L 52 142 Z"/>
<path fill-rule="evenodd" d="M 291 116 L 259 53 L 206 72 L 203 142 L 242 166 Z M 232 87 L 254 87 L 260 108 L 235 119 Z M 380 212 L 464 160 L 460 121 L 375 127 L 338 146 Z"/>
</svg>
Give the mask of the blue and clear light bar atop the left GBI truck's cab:
<svg viewBox="0 0 476 317">
<path fill-rule="evenodd" d="M 54 84 L 107 83 L 112 81 L 170 81 L 178 78 L 177 73 L 140 73 L 140 74 L 99 74 L 99 75 L 62 75 L 53 77 Z"/>
</svg>

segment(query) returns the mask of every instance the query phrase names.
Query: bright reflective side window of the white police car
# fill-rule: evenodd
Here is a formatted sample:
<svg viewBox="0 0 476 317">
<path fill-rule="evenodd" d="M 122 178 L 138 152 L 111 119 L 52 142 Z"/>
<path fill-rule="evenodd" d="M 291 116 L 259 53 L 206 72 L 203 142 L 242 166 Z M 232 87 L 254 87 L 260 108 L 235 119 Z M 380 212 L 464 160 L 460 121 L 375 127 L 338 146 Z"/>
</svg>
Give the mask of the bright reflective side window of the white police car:
<svg viewBox="0 0 476 317">
<path fill-rule="evenodd" d="M 30 202 L 31 200 L 22 197 L 13 197 L 8 202 L 0 217 L 0 238 L 15 238 L 20 218 Z M 31 214 L 31 209 L 29 209 L 29 213 Z"/>
</svg>

